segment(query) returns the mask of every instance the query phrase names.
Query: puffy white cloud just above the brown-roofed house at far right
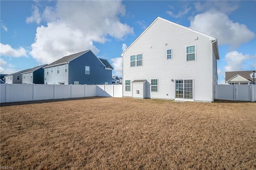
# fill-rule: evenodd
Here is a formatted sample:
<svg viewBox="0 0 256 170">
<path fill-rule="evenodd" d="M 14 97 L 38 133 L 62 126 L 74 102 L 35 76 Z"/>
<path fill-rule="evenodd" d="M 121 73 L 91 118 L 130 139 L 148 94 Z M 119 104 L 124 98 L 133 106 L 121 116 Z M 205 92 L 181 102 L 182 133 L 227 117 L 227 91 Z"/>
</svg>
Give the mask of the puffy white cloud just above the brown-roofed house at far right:
<svg viewBox="0 0 256 170">
<path fill-rule="evenodd" d="M 224 60 L 227 62 L 227 65 L 224 69 L 225 71 L 250 70 L 256 61 L 255 59 L 255 56 L 250 56 L 248 54 L 243 55 L 238 51 L 231 51 L 225 55 Z"/>
</svg>

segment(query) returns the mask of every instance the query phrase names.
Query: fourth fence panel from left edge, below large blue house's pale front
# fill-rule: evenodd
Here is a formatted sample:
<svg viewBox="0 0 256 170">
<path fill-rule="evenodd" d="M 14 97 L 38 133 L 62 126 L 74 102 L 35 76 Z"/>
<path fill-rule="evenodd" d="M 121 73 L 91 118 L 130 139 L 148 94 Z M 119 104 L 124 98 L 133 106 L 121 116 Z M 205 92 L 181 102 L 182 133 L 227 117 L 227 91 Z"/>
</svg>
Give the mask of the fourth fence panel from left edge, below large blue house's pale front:
<svg viewBox="0 0 256 170">
<path fill-rule="evenodd" d="M 71 98 L 71 85 L 54 85 L 54 99 Z"/>
</svg>

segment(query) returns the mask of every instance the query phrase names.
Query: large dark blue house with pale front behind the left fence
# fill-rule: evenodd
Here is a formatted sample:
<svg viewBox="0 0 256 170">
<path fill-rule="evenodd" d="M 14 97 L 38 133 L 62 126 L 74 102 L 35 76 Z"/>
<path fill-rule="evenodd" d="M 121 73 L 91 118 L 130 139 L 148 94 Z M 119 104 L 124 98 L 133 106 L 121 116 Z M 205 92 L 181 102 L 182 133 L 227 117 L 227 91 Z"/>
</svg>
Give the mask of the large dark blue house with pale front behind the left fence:
<svg viewBox="0 0 256 170">
<path fill-rule="evenodd" d="M 113 67 L 91 50 L 62 57 L 43 68 L 44 84 L 112 84 Z"/>
</svg>

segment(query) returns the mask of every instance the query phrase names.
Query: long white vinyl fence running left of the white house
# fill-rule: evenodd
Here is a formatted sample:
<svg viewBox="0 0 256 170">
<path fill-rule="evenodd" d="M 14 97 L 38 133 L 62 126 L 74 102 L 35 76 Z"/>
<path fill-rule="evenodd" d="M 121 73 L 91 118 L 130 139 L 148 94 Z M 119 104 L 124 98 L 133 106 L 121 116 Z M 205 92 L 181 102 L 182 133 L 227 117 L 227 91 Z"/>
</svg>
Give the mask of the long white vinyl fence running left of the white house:
<svg viewBox="0 0 256 170">
<path fill-rule="evenodd" d="M 94 96 L 122 97 L 122 85 L 0 84 L 0 103 Z"/>
</svg>

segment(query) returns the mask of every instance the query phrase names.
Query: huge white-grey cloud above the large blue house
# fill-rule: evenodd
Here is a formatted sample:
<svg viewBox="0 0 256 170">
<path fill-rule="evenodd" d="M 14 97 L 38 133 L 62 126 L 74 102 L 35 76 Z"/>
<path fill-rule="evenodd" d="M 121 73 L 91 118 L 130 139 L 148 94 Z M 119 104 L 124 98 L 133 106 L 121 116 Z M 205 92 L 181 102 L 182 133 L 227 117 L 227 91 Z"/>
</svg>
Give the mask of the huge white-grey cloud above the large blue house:
<svg viewBox="0 0 256 170">
<path fill-rule="evenodd" d="M 121 1 L 57 1 L 56 8 L 44 10 L 48 24 L 37 28 L 30 55 L 50 63 L 87 49 L 97 54 L 94 42 L 104 43 L 109 36 L 122 40 L 133 34 L 133 28 L 119 21 L 118 16 L 124 14 Z"/>
</svg>

